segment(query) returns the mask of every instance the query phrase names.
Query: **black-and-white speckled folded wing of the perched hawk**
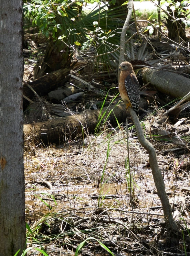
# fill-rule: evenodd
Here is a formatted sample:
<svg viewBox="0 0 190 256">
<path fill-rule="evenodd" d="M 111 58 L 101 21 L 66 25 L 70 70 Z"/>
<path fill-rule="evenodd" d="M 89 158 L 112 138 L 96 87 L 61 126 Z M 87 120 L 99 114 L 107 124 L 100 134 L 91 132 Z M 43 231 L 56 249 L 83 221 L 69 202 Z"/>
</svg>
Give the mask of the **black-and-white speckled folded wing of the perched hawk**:
<svg viewBox="0 0 190 256">
<path fill-rule="evenodd" d="M 128 74 L 126 76 L 125 88 L 134 110 L 138 112 L 140 103 L 140 86 L 137 77 L 134 74 Z"/>
</svg>

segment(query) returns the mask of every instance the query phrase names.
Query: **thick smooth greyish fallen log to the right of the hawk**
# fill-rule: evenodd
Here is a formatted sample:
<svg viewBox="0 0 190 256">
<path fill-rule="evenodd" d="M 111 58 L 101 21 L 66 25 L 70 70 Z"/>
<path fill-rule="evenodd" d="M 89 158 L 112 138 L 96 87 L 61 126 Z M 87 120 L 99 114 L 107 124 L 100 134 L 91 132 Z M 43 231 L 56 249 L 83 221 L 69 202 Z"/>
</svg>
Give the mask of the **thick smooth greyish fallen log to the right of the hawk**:
<svg viewBox="0 0 190 256">
<path fill-rule="evenodd" d="M 140 68 L 135 73 L 139 80 L 150 82 L 158 91 L 172 98 L 182 98 L 190 92 L 190 79 L 182 75 L 149 67 Z"/>
</svg>

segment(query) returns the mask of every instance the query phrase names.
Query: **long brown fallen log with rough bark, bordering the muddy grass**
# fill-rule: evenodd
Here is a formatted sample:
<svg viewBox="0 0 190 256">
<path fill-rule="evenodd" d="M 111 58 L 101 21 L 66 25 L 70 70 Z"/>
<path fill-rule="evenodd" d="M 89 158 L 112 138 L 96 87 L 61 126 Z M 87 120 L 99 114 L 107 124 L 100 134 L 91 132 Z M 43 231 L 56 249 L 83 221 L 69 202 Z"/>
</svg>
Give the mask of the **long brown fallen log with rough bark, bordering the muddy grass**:
<svg viewBox="0 0 190 256">
<path fill-rule="evenodd" d="M 124 103 L 106 109 L 106 107 L 102 109 L 101 115 L 99 109 L 88 110 L 75 116 L 57 117 L 53 120 L 24 125 L 24 136 L 28 138 L 33 135 L 33 138 L 37 141 L 42 140 L 44 144 L 62 143 L 66 137 L 73 139 L 77 135 L 82 136 L 82 128 L 89 134 L 93 133 L 98 123 L 99 115 L 102 116 L 106 112 L 101 122 L 103 124 L 104 119 L 106 119 L 112 109 L 113 111 L 107 118 L 112 125 L 117 124 L 116 118 L 118 122 L 123 122 L 127 115 L 129 116 L 129 112 L 126 111 L 126 104 Z"/>
</svg>

